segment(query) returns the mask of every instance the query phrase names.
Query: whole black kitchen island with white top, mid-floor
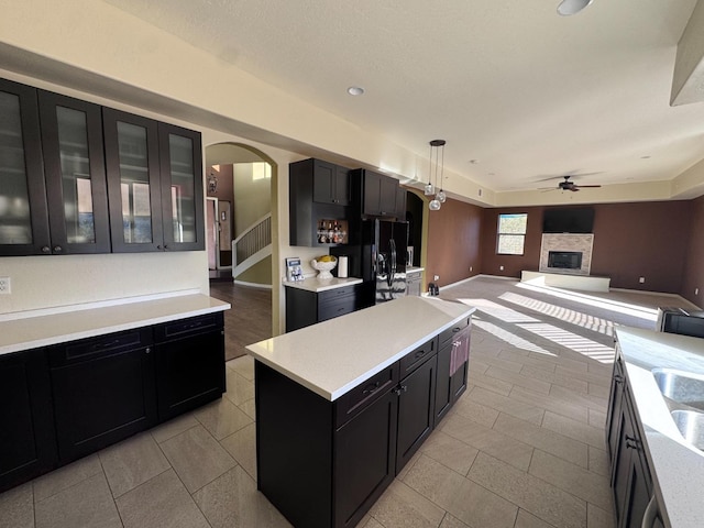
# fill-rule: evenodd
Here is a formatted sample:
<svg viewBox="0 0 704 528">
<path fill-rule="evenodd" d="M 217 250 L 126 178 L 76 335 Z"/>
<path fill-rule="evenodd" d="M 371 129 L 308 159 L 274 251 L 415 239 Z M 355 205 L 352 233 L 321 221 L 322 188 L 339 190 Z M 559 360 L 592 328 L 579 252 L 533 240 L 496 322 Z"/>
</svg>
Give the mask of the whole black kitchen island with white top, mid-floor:
<svg viewBox="0 0 704 528">
<path fill-rule="evenodd" d="M 404 297 L 248 346 L 257 486 L 294 526 L 361 520 L 465 389 L 473 311 Z"/>
</svg>

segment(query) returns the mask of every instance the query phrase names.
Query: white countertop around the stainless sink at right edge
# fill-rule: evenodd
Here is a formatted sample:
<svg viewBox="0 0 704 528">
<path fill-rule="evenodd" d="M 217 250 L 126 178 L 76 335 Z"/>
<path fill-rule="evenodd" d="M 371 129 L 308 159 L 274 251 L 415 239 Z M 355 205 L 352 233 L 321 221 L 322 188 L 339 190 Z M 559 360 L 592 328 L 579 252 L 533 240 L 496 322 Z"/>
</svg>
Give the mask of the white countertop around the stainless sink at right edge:
<svg viewBox="0 0 704 528">
<path fill-rule="evenodd" d="M 616 329 L 660 513 L 671 528 L 704 526 L 704 452 L 684 441 L 651 373 L 656 367 L 704 374 L 704 339 Z"/>
</svg>

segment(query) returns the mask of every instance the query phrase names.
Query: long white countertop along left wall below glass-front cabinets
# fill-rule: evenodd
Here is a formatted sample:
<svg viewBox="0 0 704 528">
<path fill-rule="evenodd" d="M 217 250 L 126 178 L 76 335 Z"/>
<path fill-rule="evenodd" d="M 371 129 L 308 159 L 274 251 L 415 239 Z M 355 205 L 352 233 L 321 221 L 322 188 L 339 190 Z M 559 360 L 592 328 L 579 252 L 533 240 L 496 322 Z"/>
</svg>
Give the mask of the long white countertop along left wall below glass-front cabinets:
<svg viewBox="0 0 704 528">
<path fill-rule="evenodd" d="M 228 302 L 201 294 L 122 300 L 113 306 L 80 305 L 70 311 L 0 322 L 0 355 L 228 309 Z"/>
</svg>

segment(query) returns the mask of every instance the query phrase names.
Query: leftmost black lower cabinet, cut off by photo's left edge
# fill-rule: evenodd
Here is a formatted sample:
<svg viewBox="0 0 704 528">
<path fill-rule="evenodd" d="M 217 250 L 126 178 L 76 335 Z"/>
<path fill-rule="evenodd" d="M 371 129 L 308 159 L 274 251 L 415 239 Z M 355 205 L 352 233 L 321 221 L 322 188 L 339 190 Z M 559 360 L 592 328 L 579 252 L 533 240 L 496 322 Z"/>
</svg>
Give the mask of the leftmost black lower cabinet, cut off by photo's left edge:
<svg viewBox="0 0 704 528">
<path fill-rule="evenodd" d="M 44 350 L 0 356 L 0 493 L 51 470 L 56 437 Z"/>
</svg>

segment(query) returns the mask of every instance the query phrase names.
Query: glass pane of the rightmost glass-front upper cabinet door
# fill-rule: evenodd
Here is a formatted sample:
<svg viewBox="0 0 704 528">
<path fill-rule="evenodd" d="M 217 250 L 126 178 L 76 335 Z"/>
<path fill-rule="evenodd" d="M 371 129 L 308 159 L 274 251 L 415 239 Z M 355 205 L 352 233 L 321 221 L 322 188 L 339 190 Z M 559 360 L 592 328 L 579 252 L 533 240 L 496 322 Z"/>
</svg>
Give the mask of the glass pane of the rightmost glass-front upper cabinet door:
<svg viewBox="0 0 704 528">
<path fill-rule="evenodd" d="M 194 142 L 168 134 L 174 242 L 196 242 Z"/>
</svg>

